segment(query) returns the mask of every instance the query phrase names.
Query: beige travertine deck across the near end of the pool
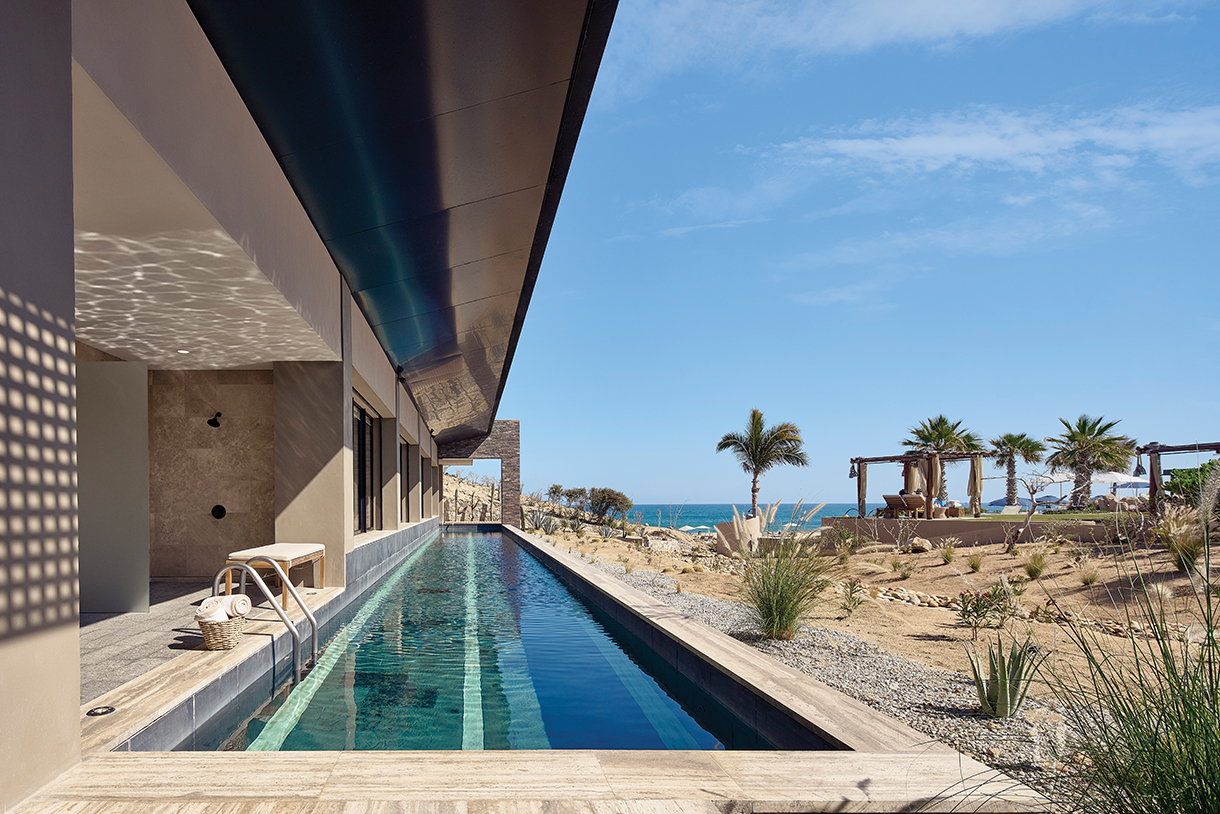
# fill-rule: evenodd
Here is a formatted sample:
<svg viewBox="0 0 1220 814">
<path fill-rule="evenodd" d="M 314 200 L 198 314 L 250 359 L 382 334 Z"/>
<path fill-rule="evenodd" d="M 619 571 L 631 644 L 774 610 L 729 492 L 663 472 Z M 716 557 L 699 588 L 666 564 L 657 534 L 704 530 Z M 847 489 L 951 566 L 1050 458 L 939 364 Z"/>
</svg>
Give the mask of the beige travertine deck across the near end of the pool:
<svg viewBox="0 0 1220 814">
<path fill-rule="evenodd" d="M 13 814 L 1010 812 L 1041 798 L 944 753 L 96 754 Z"/>
</svg>

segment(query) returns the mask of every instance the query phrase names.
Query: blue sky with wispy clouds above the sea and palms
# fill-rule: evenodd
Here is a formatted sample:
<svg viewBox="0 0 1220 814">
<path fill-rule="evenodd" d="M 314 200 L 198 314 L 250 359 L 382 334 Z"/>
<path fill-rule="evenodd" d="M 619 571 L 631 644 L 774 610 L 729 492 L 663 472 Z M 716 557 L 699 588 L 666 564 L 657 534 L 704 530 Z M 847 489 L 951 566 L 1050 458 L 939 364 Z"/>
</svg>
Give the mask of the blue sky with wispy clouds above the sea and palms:
<svg viewBox="0 0 1220 814">
<path fill-rule="evenodd" d="M 1216 442 L 1218 249 L 1220 2 L 621 0 L 498 417 L 637 504 L 748 502 L 754 408 L 764 503 L 942 412 Z"/>
</svg>

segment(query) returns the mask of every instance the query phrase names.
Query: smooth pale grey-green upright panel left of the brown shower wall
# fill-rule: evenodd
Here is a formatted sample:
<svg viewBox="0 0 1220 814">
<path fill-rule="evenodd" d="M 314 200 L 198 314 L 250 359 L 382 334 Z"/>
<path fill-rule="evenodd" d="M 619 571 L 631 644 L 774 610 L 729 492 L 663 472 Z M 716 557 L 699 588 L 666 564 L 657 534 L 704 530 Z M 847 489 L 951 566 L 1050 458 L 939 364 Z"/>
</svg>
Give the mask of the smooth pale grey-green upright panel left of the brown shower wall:
<svg viewBox="0 0 1220 814">
<path fill-rule="evenodd" d="M 149 369 L 77 362 L 82 613 L 149 609 Z"/>
</svg>

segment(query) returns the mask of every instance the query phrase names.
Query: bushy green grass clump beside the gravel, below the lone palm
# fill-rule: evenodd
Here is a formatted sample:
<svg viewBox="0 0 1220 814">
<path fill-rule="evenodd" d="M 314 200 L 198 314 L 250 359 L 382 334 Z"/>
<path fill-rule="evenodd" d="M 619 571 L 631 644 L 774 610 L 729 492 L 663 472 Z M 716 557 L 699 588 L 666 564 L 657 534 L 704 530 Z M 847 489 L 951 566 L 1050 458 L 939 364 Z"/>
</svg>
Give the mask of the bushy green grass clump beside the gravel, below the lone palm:
<svg viewBox="0 0 1220 814">
<path fill-rule="evenodd" d="M 832 560 L 784 536 L 775 550 L 745 560 L 743 593 L 767 638 L 792 638 L 830 585 Z"/>
</svg>

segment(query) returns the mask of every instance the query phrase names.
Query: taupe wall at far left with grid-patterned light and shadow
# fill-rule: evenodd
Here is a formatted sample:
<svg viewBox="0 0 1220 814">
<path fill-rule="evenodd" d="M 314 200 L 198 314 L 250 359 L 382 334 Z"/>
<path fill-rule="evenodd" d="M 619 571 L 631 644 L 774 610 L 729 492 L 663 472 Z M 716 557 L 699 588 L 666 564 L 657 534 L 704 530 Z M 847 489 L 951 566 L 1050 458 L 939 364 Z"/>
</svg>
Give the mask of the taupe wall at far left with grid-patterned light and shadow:
<svg viewBox="0 0 1220 814">
<path fill-rule="evenodd" d="M 0 4 L 0 809 L 81 758 L 66 0 Z"/>
</svg>

